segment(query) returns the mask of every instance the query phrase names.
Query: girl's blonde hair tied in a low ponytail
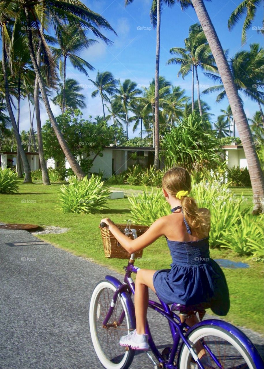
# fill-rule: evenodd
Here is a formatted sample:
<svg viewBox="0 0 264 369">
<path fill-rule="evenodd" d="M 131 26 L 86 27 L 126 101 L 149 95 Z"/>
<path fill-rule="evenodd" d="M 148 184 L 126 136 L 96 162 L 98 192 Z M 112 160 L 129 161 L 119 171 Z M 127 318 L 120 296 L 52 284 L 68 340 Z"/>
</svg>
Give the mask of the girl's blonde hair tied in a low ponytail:
<svg viewBox="0 0 264 369">
<path fill-rule="evenodd" d="M 192 189 L 191 176 L 186 169 L 180 166 L 173 167 L 164 174 L 162 188 L 173 196 L 176 196 L 176 193 L 179 191 L 188 191 L 190 193 Z M 183 196 L 180 201 L 184 217 L 191 231 L 198 234 L 199 237 L 207 235 L 210 227 L 209 211 L 199 211 L 193 197 Z"/>
</svg>

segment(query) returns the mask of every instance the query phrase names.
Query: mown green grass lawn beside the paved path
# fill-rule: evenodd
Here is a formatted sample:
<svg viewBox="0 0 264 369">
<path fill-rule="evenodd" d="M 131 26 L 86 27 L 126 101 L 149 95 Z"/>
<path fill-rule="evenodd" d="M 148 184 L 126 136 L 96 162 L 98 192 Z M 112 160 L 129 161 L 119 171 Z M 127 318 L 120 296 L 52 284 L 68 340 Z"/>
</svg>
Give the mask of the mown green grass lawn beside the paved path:
<svg viewBox="0 0 264 369">
<path fill-rule="evenodd" d="M 100 220 L 111 218 L 115 223 L 126 223 L 129 219 L 129 202 L 125 199 L 108 200 L 109 209 L 97 214 L 62 213 L 58 204 L 58 189 L 60 183 L 52 186 L 43 186 L 41 183 L 23 184 L 20 181 L 18 194 L 1 194 L 0 221 L 6 223 L 32 223 L 40 226 L 54 225 L 70 230 L 63 234 L 39 235 L 38 237 L 61 247 L 75 255 L 92 258 L 94 262 L 105 265 L 123 273 L 125 260 L 106 259 L 104 257 L 100 230 Z M 113 186 L 124 189 L 125 193 L 131 190 L 143 190 L 144 186 Z M 234 193 L 244 193 L 244 205 L 252 205 L 252 190 L 235 188 Z M 231 259 L 246 261 L 234 252 L 225 249 L 212 249 L 213 259 Z M 146 259 L 146 260 L 144 260 Z M 80 262 L 84 262 L 80 259 Z M 263 263 L 246 261 L 250 268 L 227 269 L 223 268 L 229 285 L 231 308 L 225 317 L 235 325 L 245 326 L 254 331 L 263 333 L 264 311 L 264 284 Z M 171 256 L 165 238 L 160 238 L 144 250 L 143 259 L 136 261 L 141 268 L 162 269 L 169 268 Z M 210 312 L 211 313 L 211 312 Z"/>
</svg>

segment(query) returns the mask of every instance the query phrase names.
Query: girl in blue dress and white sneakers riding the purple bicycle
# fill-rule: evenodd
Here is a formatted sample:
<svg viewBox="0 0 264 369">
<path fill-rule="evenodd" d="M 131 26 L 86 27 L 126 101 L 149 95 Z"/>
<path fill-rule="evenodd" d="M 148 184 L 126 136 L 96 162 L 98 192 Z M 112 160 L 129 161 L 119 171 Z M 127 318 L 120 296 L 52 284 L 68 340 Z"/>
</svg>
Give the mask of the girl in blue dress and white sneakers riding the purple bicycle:
<svg viewBox="0 0 264 369">
<path fill-rule="evenodd" d="M 152 244 L 164 235 L 172 256 L 171 269 L 139 269 L 135 286 L 137 328 L 120 339 L 120 345 L 148 349 L 145 325 L 148 287 L 167 304 L 210 304 L 212 311 L 226 315 L 229 292 L 220 266 L 209 257 L 210 211 L 198 209 L 188 194 L 191 177 L 184 168 L 169 169 L 162 179 L 162 192 L 171 207 L 171 214 L 157 219 L 140 237 L 126 237 L 109 219 L 102 219 L 117 241 L 130 253 Z M 186 320 L 189 326 L 198 323 L 196 315 Z M 205 355 L 201 348 L 198 357 Z"/>
</svg>

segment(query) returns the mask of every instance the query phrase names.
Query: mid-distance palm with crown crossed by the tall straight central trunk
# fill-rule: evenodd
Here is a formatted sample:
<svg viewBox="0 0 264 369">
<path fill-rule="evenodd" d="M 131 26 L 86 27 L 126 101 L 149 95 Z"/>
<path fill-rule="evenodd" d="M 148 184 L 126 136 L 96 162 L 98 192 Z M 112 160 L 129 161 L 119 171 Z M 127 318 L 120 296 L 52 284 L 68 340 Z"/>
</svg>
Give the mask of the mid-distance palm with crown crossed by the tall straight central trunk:
<svg viewBox="0 0 264 369">
<path fill-rule="evenodd" d="M 137 97 L 135 98 L 137 101 L 143 101 L 143 103 L 145 104 L 144 108 L 143 108 L 143 114 L 145 113 L 151 113 L 152 112 L 152 138 L 153 138 L 153 147 L 155 147 L 155 129 L 156 129 L 156 124 L 155 124 L 155 101 L 156 101 L 156 84 L 155 84 L 155 79 L 153 78 L 152 81 L 150 82 L 150 86 L 148 88 L 143 89 L 143 97 Z M 171 83 L 168 82 L 165 77 L 163 76 L 159 76 L 159 93 L 158 93 L 158 98 L 159 98 L 159 105 L 162 107 L 165 103 L 166 103 L 166 99 L 165 97 L 170 93 L 171 90 Z M 161 116 L 161 111 L 158 110 L 158 114 L 159 114 L 159 118 L 162 117 Z"/>
</svg>

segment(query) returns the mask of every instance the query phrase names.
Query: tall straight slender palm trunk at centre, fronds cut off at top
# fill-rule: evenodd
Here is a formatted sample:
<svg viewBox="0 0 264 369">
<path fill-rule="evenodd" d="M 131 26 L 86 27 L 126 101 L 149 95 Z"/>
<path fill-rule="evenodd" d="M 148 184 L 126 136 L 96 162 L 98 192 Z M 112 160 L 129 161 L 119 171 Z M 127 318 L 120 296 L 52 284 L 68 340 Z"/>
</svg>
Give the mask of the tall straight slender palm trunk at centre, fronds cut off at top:
<svg viewBox="0 0 264 369">
<path fill-rule="evenodd" d="M 125 6 L 133 3 L 134 0 L 125 0 Z M 181 8 L 187 8 L 191 6 L 191 0 L 153 0 L 150 10 L 151 24 L 156 27 L 156 63 L 155 63 L 155 158 L 154 166 L 159 168 L 159 151 L 160 151 L 160 134 L 159 134 L 159 69 L 160 69 L 160 25 L 161 25 L 161 8 L 165 4 L 171 7 L 175 2 L 181 5 Z"/>
</svg>

